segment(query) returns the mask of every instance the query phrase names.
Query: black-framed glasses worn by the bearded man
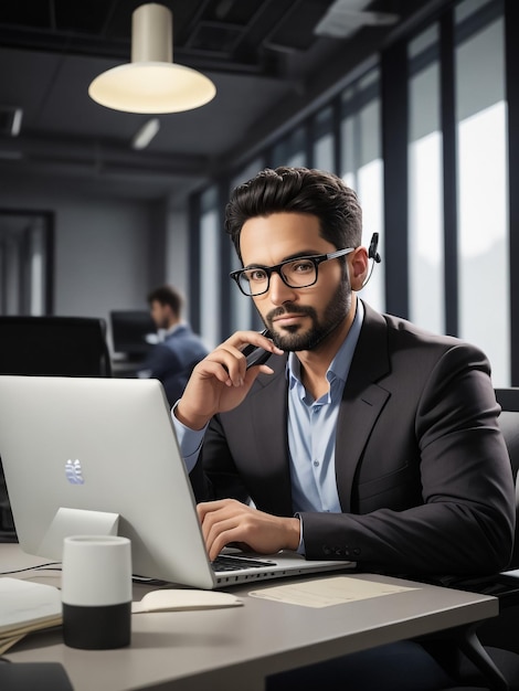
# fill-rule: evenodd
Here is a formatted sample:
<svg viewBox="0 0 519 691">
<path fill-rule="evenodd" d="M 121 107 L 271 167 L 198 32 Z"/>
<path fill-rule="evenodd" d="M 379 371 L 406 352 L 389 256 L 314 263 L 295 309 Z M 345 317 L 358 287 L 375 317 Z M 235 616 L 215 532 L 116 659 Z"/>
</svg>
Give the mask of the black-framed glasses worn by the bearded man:
<svg viewBox="0 0 519 691">
<path fill-rule="evenodd" d="M 231 272 L 230 276 L 236 281 L 243 295 L 248 297 L 266 293 L 271 286 L 272 274 L 278 274 L 283 283 L 289 288 L 309 288 L 317 283 L 319 264 L 342 257 L 354 249 L 354 247 L 347 247 L 328 254 L 285 259 L 275 266 L 247 266 L 237 272 Z"/>
</svg>

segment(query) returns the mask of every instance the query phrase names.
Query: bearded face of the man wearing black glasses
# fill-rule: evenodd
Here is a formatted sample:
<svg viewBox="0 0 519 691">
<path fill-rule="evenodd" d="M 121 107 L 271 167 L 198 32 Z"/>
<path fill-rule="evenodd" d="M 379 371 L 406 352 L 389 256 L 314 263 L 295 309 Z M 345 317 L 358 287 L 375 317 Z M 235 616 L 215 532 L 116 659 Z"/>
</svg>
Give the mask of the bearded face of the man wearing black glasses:
<svg viewBox="0 0 519 691">
<path fill-rule="evenodd" d="M 317 216 L 294 212 L 246 221 L 240 248 L 245 267 L 268 267 L 284 259 L 342 249 L 321 237 Z M 313 350 L 343 323 L 351 308 L 351 288 L 341 262 L 330 259 L 319 265 L 315 285 L 290 288 L 273 273 L 268 291 L 253 299 L 282 350 Z"/>
</svg>

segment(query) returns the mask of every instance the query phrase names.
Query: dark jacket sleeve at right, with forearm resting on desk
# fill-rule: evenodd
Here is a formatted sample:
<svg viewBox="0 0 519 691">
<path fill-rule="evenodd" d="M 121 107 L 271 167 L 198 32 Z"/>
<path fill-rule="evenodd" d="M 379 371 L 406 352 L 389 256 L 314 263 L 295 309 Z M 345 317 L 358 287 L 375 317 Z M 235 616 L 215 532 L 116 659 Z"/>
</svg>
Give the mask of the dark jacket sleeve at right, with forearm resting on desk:
<svg viewBox="0 0 519 691">
<path fill-rule="evenodd" d="M 465 346 L 447 350 L 420 392 L 412 426 L 398 419 L 411 407 L 403 392 L 392 397 L 402 401 L 380 411 L 351 483 L 348 468 L 338 467 L 349 511 L 304 515 L 307 556 L 347 555 L 398 574 L 505 568 L 513 481 L 486 359 Z"/>
</svg>

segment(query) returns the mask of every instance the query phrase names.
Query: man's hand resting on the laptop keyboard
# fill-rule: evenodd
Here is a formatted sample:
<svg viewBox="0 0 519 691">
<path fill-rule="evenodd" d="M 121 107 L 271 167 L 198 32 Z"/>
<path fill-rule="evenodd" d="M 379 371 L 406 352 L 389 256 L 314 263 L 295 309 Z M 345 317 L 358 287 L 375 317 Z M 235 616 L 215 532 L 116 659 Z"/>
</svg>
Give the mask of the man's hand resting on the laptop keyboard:
<svg viewBox="0 0 519 691">
<path fill-rule="evenodd" d="M 252 509 L 235 499 L 205 501 L 197 507 L 209 559 L 230 543 L 241 543 L 260 554 L 299 546 L 299 519 L 279 518 Z"/>
</svg>

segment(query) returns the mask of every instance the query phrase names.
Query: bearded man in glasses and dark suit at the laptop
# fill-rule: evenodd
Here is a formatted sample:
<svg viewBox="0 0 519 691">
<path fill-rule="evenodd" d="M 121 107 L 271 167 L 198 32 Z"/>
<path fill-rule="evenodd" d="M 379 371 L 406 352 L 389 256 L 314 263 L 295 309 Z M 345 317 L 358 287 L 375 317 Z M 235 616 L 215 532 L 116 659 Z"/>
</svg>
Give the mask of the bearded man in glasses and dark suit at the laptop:
<svg viewBox="0 0 519 691">
<path fill-rule="evenodd" d="M 489 363 L 359 299 L 354 192 L 321 171 L 265 170 L 234 190 L 225 226 L 244 267 L 232 277 L 272 340 L 234 333 L 173 408 L 210 557 L 239 543 L 417 577 L 506 567 L 513 482 Z M 250 344 L 266 364 L 246 370 Z"/>
</svg>

